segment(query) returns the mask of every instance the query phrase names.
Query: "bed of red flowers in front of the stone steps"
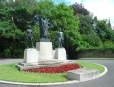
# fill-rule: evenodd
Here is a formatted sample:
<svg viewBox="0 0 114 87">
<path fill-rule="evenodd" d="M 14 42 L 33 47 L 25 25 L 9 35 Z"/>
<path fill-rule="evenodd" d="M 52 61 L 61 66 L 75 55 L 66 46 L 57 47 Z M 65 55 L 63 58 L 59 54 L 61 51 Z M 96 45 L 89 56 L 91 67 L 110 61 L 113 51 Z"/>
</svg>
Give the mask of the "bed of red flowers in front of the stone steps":
<svg viewBox="0 0 114 87">
<path fill-rule="evenodd" d="M 68 64 L 62 65 L 58 67 L 45 67 L 45 68 L 36 68 L 36 69 L 28 69 L 24 70 L 25 72 L 34 72 L 34 73 L 63 73 L 69 70 L 78 69 L 80 66 L 78 64 Z"/>
</svg>

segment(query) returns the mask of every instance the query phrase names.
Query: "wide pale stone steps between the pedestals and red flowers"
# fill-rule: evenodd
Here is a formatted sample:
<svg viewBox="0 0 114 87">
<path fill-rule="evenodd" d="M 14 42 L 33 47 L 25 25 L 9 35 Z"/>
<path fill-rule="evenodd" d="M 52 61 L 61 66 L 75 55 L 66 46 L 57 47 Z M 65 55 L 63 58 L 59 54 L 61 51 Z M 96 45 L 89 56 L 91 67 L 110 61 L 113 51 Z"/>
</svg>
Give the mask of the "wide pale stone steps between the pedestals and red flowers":
<svg viewBox="0 0 114 87">
<path fill-rule="evenodd" d="M 37 63 L 19 63 L 16 66 L 20 71 L 26 69 L 42 68 L 42 67 L 57 67 L 67 64 L 76 64 L 72 61 L 61 61 L 61 60 L 39 60 Z"/>
</svg>

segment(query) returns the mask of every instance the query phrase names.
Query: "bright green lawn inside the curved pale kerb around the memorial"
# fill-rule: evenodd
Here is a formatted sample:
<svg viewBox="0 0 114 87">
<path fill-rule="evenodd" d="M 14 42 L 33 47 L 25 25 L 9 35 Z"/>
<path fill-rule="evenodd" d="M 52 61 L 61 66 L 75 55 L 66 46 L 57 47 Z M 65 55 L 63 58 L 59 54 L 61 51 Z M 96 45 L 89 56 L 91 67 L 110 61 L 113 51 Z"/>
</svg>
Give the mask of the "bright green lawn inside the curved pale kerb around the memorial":
<svg viewBox="0 0 114 87">
<path fill-rule="evenodd" d="M 87 63 L 87 62 L 77 62 L 83 67 L 93 68 L 103 72 L 104 68 L 102 66 Z M 68 79 L 65 78 L 66 73 L 30 73 L 30 72 L 20 72 L 15 64 L 0 65 L 0 80 L 12 81 L 12 82 L 25 82 L 25 83 L 53 83 L 53 82 L 65 82 Z"/>
</svg>

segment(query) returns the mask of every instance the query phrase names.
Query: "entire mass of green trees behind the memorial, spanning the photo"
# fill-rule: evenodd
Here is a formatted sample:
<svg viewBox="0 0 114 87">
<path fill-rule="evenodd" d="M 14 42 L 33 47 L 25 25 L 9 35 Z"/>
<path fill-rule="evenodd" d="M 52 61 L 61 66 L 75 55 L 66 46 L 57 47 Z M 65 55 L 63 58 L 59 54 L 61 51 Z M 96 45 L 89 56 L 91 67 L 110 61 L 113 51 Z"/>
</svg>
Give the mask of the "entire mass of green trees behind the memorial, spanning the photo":
<svg viewBox="0 0 114 87">
<path fill-rule="evenodd" d="M 51 0 L 1 0 L 0 57 L 23 57 L 28 23 L 32 26 L 35 46 L 40 38 L 40 28 L 38 24 L 31 23 L 34 15 L 45 15 L 53 23 L 53 28 L 48 29 L 48 37 L 54 49 L 58 47 L 57 35 L 61 28 L 63 47 L 69 59 L 76 58 L 81 50 L 114 48 L 110 21 L 93 18 L 81 4 L 67 6 L 65 3 L 55 5 Z"/>
</svg>

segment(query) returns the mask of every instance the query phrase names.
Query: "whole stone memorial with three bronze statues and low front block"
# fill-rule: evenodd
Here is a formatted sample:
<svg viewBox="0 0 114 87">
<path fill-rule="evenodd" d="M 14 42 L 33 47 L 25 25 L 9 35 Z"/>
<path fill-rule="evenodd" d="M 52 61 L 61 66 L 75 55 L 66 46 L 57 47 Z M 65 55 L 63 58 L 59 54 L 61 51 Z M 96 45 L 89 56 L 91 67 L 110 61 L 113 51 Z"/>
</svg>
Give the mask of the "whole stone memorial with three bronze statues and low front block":
<svg viewBox="0 0 114 87">
<path fill-rule="evenodd" d="M 75 65 L 76 63 L 70 60 L 67 60 L 66 50 L 62 47 L 63 42 L 63 32 L 61 29 L 58 31 L 58 47 L 53 49 L 52 42 L 48 38 L 48 28 L 52 27 L 52 24 L 48 21 L 45 16 L 37 18 L 35 16 L 35 22 L 39 20 L 40 24 L 40 40 L 36 42 L 36 47 L 33 46 L 33 36 L 31 26 L 28 25 L 26 31 L 27 38 L 27 48 L 24 51 L 24 61 L 17 64 L 16 66 L 20 71 L 32 72 L 32 70 L 37 69 L 36 72 L 40 73 L 50 73 L 44 68 L 59 67 L 61 70 L 62 66 L 65 65 Z M 31 47 L 29 47 L 31 45 Z M 57 72 L 57 70 L 55 70 Z M 65 72 L 65 71 L 63 71 Z M 89 69 L 89 68 L 71 68 L 66 70 L 67 78 L 71 80 L 86 81 L 99 76 L 100 72 L 98 70 Z M 54 72 L 51 72 L 54 73 Z M 58 72 L 59 73 L 59 72 Z"/>
</svg>

